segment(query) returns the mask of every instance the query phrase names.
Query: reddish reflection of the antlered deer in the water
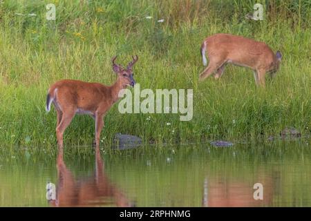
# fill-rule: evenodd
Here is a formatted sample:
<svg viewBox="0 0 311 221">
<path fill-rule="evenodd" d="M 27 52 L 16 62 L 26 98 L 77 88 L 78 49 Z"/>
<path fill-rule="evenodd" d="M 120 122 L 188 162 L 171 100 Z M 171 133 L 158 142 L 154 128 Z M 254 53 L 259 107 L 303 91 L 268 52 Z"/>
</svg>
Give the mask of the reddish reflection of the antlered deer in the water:
<svg viewBox="0 0 311 221">
<path fill-rule="evenodd" d="M 59 148 L 56 200 L 49 201 L 51 206 L 133 206 L 105 174 L 99 148 L 95 150 L 95 174 L 87 180 L 75 180 L 66 167 L 63 153 L 63 148 Z"/>
</svg>

